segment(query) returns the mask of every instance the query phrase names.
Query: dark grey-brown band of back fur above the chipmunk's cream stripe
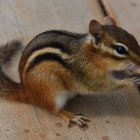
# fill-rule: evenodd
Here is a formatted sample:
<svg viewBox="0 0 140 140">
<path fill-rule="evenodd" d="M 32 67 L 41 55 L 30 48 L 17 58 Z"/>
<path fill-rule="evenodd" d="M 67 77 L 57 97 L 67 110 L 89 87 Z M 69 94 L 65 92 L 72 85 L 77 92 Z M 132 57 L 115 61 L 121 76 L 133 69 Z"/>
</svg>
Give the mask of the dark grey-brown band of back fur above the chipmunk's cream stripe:
<svg viewBox="0 0 140 140">
<path fill-rule="evenodd" d="M 79 42 L 78 40 L 85 36 L 86 34 L 71 33 L 63 30 L 43 32 L 29 42 L 23 51 L 22 58 L 27 59 L 34 51 L 47 47 L 58 48 L 62 52 L 70 55 L 73 53 L 73 42 L 75 42 L 76 45 Z"/>
</svg>

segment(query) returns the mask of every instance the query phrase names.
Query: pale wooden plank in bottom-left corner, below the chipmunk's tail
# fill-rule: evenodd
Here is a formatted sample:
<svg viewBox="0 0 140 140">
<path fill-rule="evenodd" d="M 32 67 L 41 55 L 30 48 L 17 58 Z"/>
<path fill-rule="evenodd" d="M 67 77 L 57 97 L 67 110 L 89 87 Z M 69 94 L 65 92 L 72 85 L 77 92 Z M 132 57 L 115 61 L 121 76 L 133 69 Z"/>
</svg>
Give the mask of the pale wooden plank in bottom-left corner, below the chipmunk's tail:
<svg viewBox="0 0 140 140">
<path fill-rule="evenodd" d="M 44 132 L 31 105 L 0 99 L 0 139 L 40 139 Z"/>
</svg>

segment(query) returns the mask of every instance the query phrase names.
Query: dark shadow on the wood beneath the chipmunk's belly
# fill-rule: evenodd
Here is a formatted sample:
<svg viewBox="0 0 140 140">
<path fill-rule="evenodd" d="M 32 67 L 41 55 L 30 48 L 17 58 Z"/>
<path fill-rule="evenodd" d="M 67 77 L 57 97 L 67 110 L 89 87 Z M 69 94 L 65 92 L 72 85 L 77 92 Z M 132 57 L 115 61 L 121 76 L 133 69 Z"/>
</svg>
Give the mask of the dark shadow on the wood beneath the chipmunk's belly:
<svg viewBox="0 0 140 140">
<path fill-rule="evenodd" d="M 83 113 L 91 118 L 111 115 L 138 118 L 140 117 L 139 98 L 140 95 L 134 88 L 114 93 L 95 93 L 71 99 L 66 109 L 74 113 Z"/>
</svg>

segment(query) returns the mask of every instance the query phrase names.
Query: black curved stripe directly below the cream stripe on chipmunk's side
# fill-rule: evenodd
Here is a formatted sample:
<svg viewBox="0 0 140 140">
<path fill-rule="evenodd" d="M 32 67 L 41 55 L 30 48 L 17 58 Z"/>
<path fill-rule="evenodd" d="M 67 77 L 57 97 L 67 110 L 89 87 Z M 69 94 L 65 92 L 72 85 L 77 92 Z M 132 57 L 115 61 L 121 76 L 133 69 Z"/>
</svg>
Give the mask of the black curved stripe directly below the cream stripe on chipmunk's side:
<svg viewBox="0 0 140 140">
<path fill-rule="evenodd" d="M 28 66 L 26 72 L 30 71 L 32 68 L 34 68 L 36 65 L 40 64 L 43 61 L 56 61 L 59 64 L 63 65 L 65 68 L 68 68 L 68 64 L 65 62 L 64 59 L 61 58 L 60 55 L 55 53 L 45 53 L 38 55 Z"/>
</svg>

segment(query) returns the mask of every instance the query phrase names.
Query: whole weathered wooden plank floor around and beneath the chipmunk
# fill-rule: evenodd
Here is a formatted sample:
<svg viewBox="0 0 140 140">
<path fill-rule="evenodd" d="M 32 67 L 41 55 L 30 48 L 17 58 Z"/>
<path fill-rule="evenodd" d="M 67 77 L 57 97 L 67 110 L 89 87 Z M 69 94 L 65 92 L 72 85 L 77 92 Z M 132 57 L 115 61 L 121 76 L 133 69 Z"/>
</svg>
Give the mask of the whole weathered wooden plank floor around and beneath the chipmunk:
<svg viewBox="0 0 140 140">
<path fill-rule="evenodd" d="M 27 44 L 50 29 L 87 32 L 89 21 L 102 22 L 104 14 L 116 17 L 140 42 L 140 1 L 100 1 L 106 12 L 98 0 L 0 0 L 0 42 L 20 39 Z M 15 80 L 19 55 L 5 68 Z M 0 140 L 140 140 L 140 94 L 136 89 L 76 98 L 67 109 L 89 117 L 89 129 L 68 129 L 65 121 L 45 109 L 0 99 Z"/>
</svg>

